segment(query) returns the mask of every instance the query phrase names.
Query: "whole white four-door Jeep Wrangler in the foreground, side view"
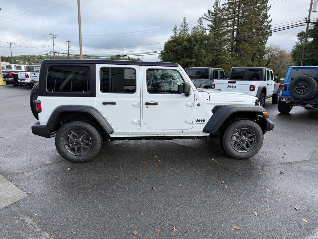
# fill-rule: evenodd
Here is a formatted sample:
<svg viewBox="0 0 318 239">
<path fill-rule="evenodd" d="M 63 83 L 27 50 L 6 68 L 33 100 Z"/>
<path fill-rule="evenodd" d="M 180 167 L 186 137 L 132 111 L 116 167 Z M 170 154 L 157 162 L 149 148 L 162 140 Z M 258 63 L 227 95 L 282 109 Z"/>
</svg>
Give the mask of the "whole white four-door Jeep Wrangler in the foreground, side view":
<svg viewBox="0 0 318 239">
<path fill-rule="evenodd" d="M 229 156 L 246 159 L 274 127 L 257 98 L 196 89 L 167 62 L 44 60 L 30 104 L 39 120 L 32 133 L 55 136 L 59 154 L 74 163 L 92 160 L 103 140 L 214 136 Z"/>
</svg>

